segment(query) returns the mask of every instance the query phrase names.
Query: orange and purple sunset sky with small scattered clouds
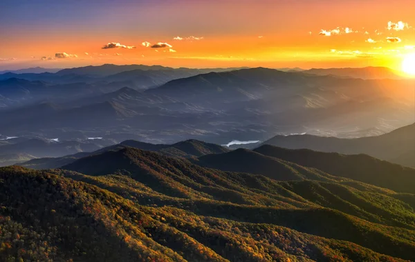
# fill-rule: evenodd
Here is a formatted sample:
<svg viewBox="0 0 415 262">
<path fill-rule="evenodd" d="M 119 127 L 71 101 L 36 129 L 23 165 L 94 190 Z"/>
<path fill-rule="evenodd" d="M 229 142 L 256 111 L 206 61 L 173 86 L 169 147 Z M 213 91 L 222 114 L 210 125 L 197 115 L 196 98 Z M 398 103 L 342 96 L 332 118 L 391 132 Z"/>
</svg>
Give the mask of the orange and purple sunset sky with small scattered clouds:
<svg viewBox="0 0 415 262">
<path fill-rule="evenodd" d="M 400 70 L 413 0 L 1 0 L 0 70 L 114 64 Z"/>
</svg>

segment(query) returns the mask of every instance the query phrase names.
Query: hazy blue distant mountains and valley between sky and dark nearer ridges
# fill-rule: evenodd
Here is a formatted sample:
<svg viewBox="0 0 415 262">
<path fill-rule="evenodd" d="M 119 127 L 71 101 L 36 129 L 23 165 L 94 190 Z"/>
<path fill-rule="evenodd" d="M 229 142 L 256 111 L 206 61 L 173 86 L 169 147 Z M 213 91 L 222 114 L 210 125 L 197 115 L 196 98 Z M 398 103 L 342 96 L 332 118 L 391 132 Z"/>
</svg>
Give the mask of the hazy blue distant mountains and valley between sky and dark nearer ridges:
<svg viewBox="0 0 415 262">
<path fill-rule="evenodd" d="M 0 79 L 0 133 L 8 137 L 227 144 L 304 132 L 367 137 L 415 121 L 411 79 L 142 65 L 6 73 Z"/>
</svg>

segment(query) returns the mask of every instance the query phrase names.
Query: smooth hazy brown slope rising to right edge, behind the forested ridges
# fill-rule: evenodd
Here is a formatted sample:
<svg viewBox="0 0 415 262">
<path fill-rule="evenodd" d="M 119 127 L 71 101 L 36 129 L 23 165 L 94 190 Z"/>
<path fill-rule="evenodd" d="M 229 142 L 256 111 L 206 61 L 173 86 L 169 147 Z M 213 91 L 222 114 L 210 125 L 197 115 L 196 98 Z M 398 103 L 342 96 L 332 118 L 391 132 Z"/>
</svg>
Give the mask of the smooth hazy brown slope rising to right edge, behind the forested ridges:
<svg viewBox="0 0 415 262">
<path fill-rule="evenodd" d="M 396 163 L 401 165 L 415 167 L 415 161 L 409 157 L 414 151 L 414 134 L 415 123 L 377 137 L 338 139 L 335 137 L 317 137 L 304 134 L 276 136 L 264 141 L 263 144 L 290 149 L 307 148 L 322 152 L 339 152 L 342 154 L 369 154 L 379 159 L 396 161 Z M 397 158 L 401 160 L 397 161 Z"/>
</svg>

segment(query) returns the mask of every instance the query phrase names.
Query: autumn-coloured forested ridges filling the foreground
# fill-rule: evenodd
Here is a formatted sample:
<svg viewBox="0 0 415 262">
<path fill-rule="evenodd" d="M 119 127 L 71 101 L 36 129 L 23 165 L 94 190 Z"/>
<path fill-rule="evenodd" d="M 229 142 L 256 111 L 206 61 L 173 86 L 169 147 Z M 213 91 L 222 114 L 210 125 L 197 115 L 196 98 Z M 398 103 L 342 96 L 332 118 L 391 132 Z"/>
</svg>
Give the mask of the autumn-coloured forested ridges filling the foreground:
<svg viewBox="0 0 415 262">
<path fill-rule="evenodd" d="M 214 170 L 201 166 L 210 155 L 172 158 L 131 147 L 62 170 L 1 168 L 0 260 L 415 259 L 414 194 L 259 152 L 216 156 L 246 153 L 259 169 L 250 172 L 269 164 L 274 174 Z"/>
</svg>

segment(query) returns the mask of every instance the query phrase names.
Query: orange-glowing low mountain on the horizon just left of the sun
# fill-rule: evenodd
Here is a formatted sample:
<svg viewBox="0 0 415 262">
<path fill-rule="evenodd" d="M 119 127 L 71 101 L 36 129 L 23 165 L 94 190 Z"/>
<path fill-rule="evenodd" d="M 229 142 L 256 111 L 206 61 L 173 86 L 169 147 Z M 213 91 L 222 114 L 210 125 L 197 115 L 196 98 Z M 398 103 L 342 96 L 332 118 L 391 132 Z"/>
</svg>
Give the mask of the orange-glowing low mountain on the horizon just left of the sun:
<svg viewBox="0 0 415 262">
<path fill-rule="evenodd" d="M 335 75 L 338 77 L 351 77 L 360 79 L 402 79 L 398 71 L 391 68 L 313 68 L 303 72 L 318 75 Z"/>
</svg>

